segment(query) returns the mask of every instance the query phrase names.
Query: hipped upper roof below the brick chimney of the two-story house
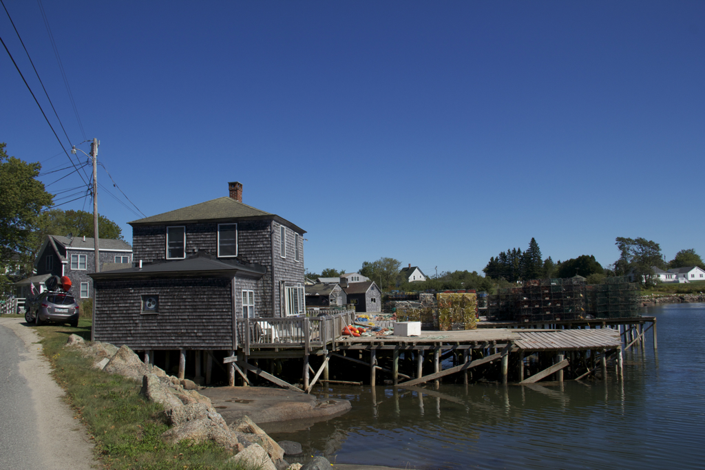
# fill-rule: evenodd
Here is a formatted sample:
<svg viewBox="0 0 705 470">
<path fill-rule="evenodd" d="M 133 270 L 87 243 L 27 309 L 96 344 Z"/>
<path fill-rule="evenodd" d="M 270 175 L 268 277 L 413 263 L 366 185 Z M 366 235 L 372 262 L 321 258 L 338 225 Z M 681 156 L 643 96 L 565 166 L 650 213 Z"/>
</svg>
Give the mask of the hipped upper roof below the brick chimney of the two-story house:
<svg viewBox="0 0 705 470">
<path fill-rule="evenodd" d="M 237 221 L 253 220 L 253 219 L 274 219 L 289 228 L 300 233 L 306 233 L 305 230 L 297 227 L 293 223 L 284 218 L 271 214 L 269 212 L 260 211 L 252 206 L 243 204 L 232 197 L 219 197 L 210 201 L 201 202 L 193 206 L 182 207 L 173 211 L 157 214 L 156 216 L 140 218 L 137 221 L 128 222 L 130 225 L 155 225 L 163 223 L 185 223 L 185 222 L 200 222 L 200 221 Z"/>
</svg>

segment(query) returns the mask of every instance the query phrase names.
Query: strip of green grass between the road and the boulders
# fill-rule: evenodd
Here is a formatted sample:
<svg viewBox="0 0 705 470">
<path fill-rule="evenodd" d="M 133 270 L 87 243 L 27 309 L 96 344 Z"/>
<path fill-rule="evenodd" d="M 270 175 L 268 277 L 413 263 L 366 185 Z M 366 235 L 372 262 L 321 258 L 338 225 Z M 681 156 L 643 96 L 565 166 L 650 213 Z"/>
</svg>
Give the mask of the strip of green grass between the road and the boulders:
<svg viewBox="0 0 705 470">
<path fill-rule="evenodd" d="M 168 429 L 160 404 L 140 395 L 141 384 L 91 366 L 91 360 L 63 347 L 71 333 L 90 340 L 90 319 L 78 328 L 33 326 L 42 337 L 44 354 L 54 367 L 54 378 L 95 441 L 95 454 L 104 469 L 244 470 L 227 464 L 231 454 L 213 443 L 166 445 L 159 435 Z"/>
</svg>

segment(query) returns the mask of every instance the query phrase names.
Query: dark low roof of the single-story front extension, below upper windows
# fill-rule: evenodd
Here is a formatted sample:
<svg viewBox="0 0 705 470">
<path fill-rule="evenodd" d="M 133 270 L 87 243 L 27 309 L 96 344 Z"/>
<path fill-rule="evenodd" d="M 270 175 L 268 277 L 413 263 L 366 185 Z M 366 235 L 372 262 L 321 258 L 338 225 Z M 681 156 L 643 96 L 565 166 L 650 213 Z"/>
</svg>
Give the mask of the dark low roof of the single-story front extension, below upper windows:
<svg viewBox="0 0 705 470">
<path fill-rule="evenodd" d="M 162 261 L 143 264 L 142 268 L 126 268 L 88 276 L 94 279 L 112 278 L 153 278 L 153 277 L 192 277 L 192 276 L 229 276 L 243 278 L 262 278 L 266 266 L 243 263 L 237 259 L 223 261 L 215 256 L 198 253 L 179 261 Z"/>
</svg>

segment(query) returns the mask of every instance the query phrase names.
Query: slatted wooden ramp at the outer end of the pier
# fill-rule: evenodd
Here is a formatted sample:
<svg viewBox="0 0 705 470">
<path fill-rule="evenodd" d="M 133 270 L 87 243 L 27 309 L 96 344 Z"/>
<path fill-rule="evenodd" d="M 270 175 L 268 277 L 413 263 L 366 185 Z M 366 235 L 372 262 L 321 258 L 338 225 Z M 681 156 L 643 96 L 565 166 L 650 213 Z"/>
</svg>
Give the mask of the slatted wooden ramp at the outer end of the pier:
<svg viewBox="0 0 705 470">
<path fill-rule="evenodd" d="M 514 330 L 519 339 L 515 350 L 577 351 L 617 349 L 622 345 L 618 330 L 596 328 L 590 330 Z"/>
</svg>

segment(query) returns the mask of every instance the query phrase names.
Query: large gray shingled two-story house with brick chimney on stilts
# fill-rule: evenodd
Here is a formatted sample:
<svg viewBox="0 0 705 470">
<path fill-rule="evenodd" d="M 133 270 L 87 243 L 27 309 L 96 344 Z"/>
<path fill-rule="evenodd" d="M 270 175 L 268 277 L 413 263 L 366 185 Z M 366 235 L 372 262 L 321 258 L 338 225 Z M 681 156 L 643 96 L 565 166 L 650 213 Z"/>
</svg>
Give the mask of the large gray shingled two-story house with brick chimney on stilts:
<svg viewBox="0 0 705 470">
<path fill-rule="evenodd" d="M 228 189 L 130 222 L 134 267 L 92 275 L 94 340 L 231 354 L 243 337 L 238 319 L 305 314 L 305 230 L 243 204 L 240 183 Z"/>
</svg>

